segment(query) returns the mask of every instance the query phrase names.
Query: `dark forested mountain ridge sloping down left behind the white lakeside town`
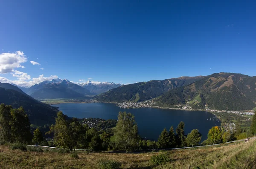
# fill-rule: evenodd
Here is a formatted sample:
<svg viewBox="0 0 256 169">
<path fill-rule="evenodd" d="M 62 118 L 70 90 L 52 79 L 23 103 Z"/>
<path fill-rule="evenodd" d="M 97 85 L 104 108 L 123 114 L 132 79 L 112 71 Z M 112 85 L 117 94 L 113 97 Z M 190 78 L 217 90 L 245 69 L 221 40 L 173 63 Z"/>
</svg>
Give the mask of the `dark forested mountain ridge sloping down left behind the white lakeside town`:
<svg viewBox="0 0 256 169">
<path fill-rule="evenodd" d="M 119 86 L 118 88 L 111 89 L 110 91 L 102 93 L 94 98 L 96 100 L 106 102 L 141 102 L 158 97 L 169 90 L 188 85 L 197 80 L 201 80 L 202 78 L 204 78 L 204 76 L 179 77 L 166 80 L 151 80 L 148 82 L 134 83 Z"/>
</svg>

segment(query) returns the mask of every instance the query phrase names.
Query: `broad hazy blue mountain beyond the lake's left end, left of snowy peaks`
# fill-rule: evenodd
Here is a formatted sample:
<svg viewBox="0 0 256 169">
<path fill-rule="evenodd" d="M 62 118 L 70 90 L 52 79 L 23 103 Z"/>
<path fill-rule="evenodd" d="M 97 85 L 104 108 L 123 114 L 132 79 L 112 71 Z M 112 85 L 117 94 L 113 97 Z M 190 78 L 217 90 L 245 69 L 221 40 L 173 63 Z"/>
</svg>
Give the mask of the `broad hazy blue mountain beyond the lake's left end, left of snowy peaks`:
<svg viewBox="0 0 256 169">
<path fill-rule="evenodd" d="M 77 98 L 91 95 L 83 87 L 67 79 L 52 79 L 31 86 L 27 94 L 35 99 Z"/>
</svg>

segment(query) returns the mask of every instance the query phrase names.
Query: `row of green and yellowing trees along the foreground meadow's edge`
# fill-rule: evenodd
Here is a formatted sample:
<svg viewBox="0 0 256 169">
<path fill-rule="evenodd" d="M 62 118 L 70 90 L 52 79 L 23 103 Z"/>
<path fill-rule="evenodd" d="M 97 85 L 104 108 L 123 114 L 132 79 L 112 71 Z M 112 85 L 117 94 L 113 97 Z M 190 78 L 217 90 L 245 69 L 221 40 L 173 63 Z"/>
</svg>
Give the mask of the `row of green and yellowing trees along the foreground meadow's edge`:
<svg viewBox="0 0 256 169">
<path fill-rule="evenodd" d="M 225 131 L 222 127 L 213 126 L 209 129 L 208 138 L 201 143 L 201 133 L 193 129 L 185 134 L 185 123 L 181 121 L 176 129 L 169 131 L 165 128 L 157 141 L 141 140 L 134 115 L 119 112 L 118 122 L 113 132 L 115 140 L 111 141 L 111 134 L 99 132 L 82 124 L 77 118 L 69 118 L 62 112 L 57 113 L 55 124 L 46 133 L 53 136 L 56 147 L 70 149 L 125 150 L 131 152 L 138 149 L 169 149 L 176 147 L 209 145 L 225 143 L 234 138 L 248 137 L 256 134 L 256 115 L 253 115 L 250 133 L 243 133 L 241 126 L 236 126 L 236 132 Z M 33 133 L 33 134 L 32 134 Z M 45 139 L 39 128 L 30 131 L 29 118 L 22 107 L 12 109 L 12 106 L 0 105 L 0 143 L 35 143 L 44 144 Z M 47 144 L 47 143 L 46 143 Z"/>
</svg>

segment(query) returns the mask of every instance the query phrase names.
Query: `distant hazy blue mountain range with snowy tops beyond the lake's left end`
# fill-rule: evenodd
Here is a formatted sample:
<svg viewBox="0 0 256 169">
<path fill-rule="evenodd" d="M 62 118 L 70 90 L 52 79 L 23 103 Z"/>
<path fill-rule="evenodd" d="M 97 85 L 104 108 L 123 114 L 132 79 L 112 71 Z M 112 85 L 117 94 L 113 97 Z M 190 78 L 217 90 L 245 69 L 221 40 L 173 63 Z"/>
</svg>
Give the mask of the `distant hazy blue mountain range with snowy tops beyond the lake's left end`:
<svg viewBox="0 0 256 169">
<path fill-rule="evenodd" d="M 13 86 L 17 86 L 12 84 Z M 94 96 L 107 92 L 122 84 L 110 82 L 87 81 L 83 83 L 73 83 L 67 79 L 52 79 L 35 84 L 29 88 L 17 86 L 23 92 L 35 99 L 57 99 L 57 98 L 81 98 Z"/>
</svg>

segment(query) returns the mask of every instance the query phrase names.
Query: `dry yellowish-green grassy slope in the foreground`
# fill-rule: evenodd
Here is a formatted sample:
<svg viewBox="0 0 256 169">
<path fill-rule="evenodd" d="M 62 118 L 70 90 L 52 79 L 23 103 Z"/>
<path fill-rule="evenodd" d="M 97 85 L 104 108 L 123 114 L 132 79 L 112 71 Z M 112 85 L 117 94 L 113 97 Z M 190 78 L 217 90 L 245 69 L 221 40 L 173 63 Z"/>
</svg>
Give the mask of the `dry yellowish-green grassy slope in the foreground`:
<svg viewBox="0 0 256 169">
<path fill-rule="evenodd" d="M 256 140 L 249 143 L 236 143 L 198 149 L 166 151 L 171 162 L 162 166 L 152 166 L 150 158 L 163 152 L 140 154 L 119 153 L 79 153 L 79 159 L 70 157 L 69 153 L 55 152 L 21 152 L 0 146 L 0 168 L 85 168 L 97 169 L 100 159 L 117 160 L 121 168 L 174 168 L 174 169 L 248 169 L 256 168 Z"/>
</svg>

